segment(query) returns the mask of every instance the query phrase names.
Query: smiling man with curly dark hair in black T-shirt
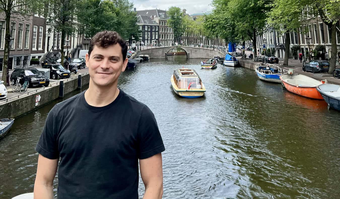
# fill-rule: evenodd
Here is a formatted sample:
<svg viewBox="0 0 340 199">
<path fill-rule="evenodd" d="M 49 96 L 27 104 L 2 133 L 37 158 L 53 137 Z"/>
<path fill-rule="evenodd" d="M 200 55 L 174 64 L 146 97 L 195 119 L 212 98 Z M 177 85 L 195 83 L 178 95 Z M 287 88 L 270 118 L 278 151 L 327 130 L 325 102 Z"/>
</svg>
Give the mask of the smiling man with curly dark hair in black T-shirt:
<svg viewBox="0 0 340 199">
<path fill-rule="evenodd" d="M 138 160 L 144 198 L 162 198 L 165 148 L 155 117 L 117 88 L 126 52 L 116 32 L 91 38 L 89 88 L 51 109 L 36 146 L 34 199 L 53 198 L 57 167 L 58 199 L 138 199 Z"/>
</svg>

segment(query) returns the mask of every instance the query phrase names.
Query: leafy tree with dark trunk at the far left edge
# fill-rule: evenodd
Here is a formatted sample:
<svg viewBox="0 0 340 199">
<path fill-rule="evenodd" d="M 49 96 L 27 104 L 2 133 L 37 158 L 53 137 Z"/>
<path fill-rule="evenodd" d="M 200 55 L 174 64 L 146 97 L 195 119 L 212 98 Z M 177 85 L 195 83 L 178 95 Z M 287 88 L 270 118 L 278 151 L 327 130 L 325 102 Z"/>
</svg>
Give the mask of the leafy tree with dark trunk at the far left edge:
<svg viewBox="0 0 340 199">
<path fill-rule="evenodd" d="M 0 0 L 0 15 L 4 15 L 6 21 L 2 80 L 5 80 L 7 76 L 8 47 L 11 39 L 11 19 L 27 19 L 32 13 L 38 13 L 38 11 L 43 10 L 43 8 L 43 0 Z"/>
</svg>

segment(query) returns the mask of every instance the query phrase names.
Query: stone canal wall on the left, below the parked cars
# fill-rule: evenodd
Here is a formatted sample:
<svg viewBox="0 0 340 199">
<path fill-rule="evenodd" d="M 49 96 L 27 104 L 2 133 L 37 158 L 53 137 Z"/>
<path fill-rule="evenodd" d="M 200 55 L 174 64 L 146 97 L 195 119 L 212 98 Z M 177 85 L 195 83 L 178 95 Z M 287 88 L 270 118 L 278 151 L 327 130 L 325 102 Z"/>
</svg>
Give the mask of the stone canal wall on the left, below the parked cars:
<svg viewBox="0 0 340 199">
<path fill-rule="evenodd" d="M 81 86 L 89 83 L 90 75 L 88 73 L 82 74 Z M 78 78 L 66 79 L 65 81 L 57 82 L 49 87 L 42 87 L 35 91 L 23 93 L 17 97 L 8 99 L 7 102 L 0 105 L 0 118 L 16 118 L 20 115 L 28 113 L 36 108 L 56 100 L 57 98 L 66 95 L 78 89 Z M 64 92 L 60 93 L 60 87 L 63 86 Z M 36 102 L 39 101 L 39 102 Z"/>
</svg>

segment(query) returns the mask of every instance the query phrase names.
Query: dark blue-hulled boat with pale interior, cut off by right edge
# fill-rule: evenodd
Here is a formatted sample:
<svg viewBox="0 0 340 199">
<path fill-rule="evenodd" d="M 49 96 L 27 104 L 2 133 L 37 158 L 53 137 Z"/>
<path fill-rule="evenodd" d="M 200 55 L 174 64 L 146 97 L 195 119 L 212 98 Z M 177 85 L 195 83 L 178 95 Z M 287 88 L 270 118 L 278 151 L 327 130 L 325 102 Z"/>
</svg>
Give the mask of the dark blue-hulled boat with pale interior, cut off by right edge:
<svg viewBox="0 0 340 199">
<path fill-rule="evenodd" d="M 323 99 L 328 104 L 328 108 L 340 111 L 340 86 L 335 84 L 321 84 L 317 86 Z"/>
</svg>

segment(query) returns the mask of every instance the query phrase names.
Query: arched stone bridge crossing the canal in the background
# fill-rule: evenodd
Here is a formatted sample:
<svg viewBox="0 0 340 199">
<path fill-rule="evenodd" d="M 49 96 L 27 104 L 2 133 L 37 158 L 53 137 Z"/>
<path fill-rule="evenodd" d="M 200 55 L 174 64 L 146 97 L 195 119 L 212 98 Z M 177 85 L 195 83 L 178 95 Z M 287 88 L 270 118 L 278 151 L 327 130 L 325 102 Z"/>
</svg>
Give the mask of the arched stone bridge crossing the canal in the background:
<svg viewBox="0 0 340 199">
<path fill-rule="evenodd" d="M 147 49 L 146 49 L 147 48 Z M 224 57 L 225 55 L 218 50 L 209 48 L 199 47 L 188 47 L 188 46 L 166 46 L 166 47 L 141 47 L 141 50 L 137 51 L 133 56 L 134 58 L 138 55 L 149 55 L 150 58 L 167 58 L 167 53 L 174 48 L 181 48 L 185 51 L 187 58 L 198 58 L 206 59 L 214 56 Z"/>
</svg>

